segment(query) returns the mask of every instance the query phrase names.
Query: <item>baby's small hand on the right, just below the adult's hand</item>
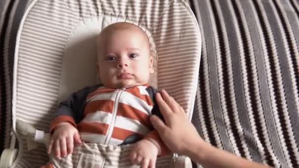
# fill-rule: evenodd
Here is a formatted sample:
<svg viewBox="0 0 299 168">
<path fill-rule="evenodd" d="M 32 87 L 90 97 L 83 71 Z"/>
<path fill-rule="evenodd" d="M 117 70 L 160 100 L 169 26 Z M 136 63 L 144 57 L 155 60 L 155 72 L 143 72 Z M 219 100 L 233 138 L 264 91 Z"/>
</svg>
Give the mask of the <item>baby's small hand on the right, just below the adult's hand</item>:
<svg viewBox="0 0 299 168">
<path fill-rule="evenodd" d="M 151 141 L 143 139 L 135 143 L 131 151 L 131 162 L 141 168 L 155 168 L 158 147 Z"/>
</svg>

